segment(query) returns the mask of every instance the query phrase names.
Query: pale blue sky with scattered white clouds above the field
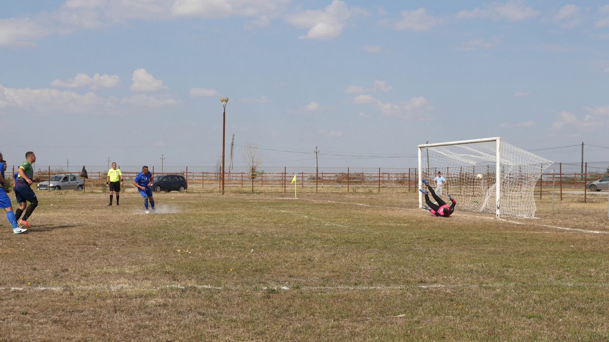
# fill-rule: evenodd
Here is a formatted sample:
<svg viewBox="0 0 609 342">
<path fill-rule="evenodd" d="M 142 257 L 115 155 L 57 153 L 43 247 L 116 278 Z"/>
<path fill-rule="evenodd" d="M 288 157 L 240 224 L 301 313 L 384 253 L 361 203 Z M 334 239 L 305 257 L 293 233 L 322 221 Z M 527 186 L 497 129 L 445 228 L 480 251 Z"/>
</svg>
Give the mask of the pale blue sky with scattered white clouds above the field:
<svg viewBox="0 0 609 342">
<path fill-rule="evenodd" d="M 37 166 L 406 170 L 501 136 L 609 166 L 609 1 L 0 2 L 0 151 Z"/>
</svg>

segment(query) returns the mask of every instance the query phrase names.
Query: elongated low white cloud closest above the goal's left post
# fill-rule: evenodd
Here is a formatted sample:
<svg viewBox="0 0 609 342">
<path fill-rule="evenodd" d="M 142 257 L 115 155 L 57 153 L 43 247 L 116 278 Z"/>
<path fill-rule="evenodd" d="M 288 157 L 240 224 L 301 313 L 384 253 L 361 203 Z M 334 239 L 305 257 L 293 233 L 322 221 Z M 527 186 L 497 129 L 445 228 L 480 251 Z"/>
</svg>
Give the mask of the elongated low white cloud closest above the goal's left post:
<svg viewBox="0 0 609 342">
<path fill-rule="evenodd" d="M 354 97 L 351 101 L 356 105 L 374 104 L 382 114 L 387 117 L 395 118 L 416 118 L 424 120 L 424 118 L 421 118 L 420 116 L 424 116 L 432 109 L 429 105 L 429 101 L 422 96 L 412 97 L 410 100 L 403 103 L 384 103 L 370 95 L 359 95 Z"/>
</svg>

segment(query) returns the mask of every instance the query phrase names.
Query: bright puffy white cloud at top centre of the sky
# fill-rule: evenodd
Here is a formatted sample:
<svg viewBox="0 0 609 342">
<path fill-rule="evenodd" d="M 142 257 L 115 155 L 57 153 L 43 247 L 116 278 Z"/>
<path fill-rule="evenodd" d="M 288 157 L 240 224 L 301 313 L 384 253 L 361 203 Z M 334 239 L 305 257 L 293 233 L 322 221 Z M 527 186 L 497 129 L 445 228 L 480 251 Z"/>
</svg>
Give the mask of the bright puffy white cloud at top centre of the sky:
<svg viewBox="0 0 609 342">
<path fill-rule="evenodd" d="M 287 22 L 299 29 L 308 29 L 301 39 L 333 40 L 340 37 L 345 24 L 357 15 L 367 12 L 359 7 L 348 7 L 341 0 L 333 0 L 324 10 L 306 10 L 287 18 Z"/>
</svg>

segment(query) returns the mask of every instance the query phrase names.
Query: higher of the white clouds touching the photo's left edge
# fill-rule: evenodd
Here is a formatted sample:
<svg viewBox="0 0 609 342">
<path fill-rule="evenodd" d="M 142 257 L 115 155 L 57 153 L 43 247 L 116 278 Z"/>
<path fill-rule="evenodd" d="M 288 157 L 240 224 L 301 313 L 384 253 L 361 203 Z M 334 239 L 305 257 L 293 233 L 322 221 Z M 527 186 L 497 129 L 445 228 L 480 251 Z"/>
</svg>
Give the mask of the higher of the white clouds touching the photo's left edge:
<svg viewBox="0 0 609 342">
<path fill-rule="evenodd" d="M 0 19 L 0 47 L 33 47 L 49 33 L 29 18 Z"/>
</svg>

